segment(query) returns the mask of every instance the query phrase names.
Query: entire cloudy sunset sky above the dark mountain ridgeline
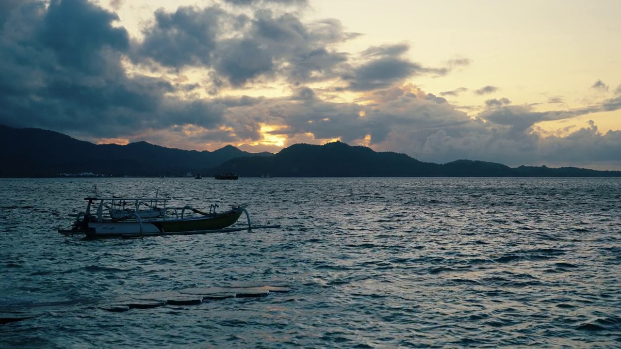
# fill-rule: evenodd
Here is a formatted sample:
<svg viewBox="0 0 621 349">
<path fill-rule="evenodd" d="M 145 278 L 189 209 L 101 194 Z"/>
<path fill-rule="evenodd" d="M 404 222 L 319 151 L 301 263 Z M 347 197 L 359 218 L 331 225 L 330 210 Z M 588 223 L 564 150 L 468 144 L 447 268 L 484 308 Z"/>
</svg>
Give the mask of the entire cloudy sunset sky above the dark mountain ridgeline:
<svg viewBox="0 0 621 349">
<path fill-rule="evenodd" d="M 0 124 L 621 170 L 618 0 L 0 0 Z"/>
</svg>

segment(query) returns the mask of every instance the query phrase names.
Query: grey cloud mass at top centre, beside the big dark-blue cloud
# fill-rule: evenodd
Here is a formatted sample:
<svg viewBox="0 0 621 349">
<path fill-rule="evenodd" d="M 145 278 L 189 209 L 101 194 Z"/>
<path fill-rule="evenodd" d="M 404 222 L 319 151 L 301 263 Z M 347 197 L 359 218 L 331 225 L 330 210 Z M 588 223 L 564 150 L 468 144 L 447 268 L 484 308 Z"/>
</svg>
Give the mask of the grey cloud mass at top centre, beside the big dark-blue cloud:
<svg viewBox="0 0 621 349">
<path fill-rule="evenodd" d="M 233 16 L 217 6 L 158 10 L 144 34 L 144 42 L 135 45 L 134 61 L 212 68 L 213 81 L 233 87 L 278 76 L 294 84 L 336 78 L 347 54 L 330 45 L 358 36 L 344 32 L 338 20 L 303 24 L 294 14 L 276 16 L 268 9 L 255 11 L 252 18 Z M 221 87 L 214 83 L 211 92 Z"/>
</svg>

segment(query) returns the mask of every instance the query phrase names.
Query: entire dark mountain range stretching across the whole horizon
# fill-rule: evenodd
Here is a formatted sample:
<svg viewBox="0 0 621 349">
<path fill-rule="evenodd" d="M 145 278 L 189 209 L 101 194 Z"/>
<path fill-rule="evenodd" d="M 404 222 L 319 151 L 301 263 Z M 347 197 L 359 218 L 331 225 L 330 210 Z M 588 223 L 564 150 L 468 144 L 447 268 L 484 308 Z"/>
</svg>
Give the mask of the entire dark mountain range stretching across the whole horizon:
<svg viewBox="0 0 621 349">
<path fill-rule="evenodd" d="M 621 171 L 519 166 L 457 160 L 427 163 L 394 152 L 342 142 L 295 144 L 276 154 L 227 145 L 214 152 L 165 148 L 147 142 L 94 144 L 42 129 L 0 125 L 0 177 L 187 176 L 237 173 L 243 177 L 619 177 Z"/>
</svg>

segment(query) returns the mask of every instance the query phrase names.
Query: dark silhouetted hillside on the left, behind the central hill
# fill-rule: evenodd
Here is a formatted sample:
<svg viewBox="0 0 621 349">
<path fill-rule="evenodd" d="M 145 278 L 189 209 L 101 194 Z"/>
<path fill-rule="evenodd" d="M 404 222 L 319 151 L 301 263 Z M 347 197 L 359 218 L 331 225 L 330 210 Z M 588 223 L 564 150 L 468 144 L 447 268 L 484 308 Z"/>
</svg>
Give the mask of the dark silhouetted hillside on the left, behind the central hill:
<svg viewBox="0 0 621 349">
<path fill-rule="evenodd" d="M 58 132 L 14 129 L 0 125 L 0 176 L 40 177 L 57 173 L 102 173 L 113 176 L 167 176 L 207 169 L 238 156 L 253 154 L 227 146 L 215 152 L 160 147 L 147 142 L 96 145 Z"/>
</svg>

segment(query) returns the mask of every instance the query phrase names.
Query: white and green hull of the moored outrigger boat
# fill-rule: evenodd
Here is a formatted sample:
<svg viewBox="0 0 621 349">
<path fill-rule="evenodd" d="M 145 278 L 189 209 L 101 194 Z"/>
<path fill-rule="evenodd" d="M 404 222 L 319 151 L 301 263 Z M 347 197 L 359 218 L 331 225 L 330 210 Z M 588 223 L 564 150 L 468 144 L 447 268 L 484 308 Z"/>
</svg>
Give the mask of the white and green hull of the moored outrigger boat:
<svg viewBox="0 0 621 349">
<path fill-rule="evenodd" d="M 87 237 L 122 237 L 140 233 L 176 233 L 197 230 L 218 230 L 230 227 L 243 213 L 243 207 L 203 217 L 183 219 L 124 220 L 121 222 L 88 222 Z"/>
</svg>

